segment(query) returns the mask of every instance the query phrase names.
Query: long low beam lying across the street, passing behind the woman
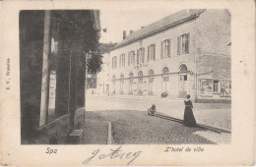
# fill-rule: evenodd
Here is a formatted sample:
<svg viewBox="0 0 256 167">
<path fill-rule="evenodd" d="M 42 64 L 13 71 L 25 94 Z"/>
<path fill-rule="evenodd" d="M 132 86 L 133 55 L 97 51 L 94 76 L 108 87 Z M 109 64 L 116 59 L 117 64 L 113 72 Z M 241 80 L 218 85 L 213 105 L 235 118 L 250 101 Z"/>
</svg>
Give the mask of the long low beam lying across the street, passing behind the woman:
<svg viewBox="0 0 256 167">
<path fill-rule="evenodd" d="M 170 116 L 166 116 L 166 115 L 163 115 L 161 113 L 156 113 L 154 116 L 162 118 L 162 119 L 166 119 L 166 120 L 169 120 L 169 121 L 183 123 L 183 120 L 181 120 L 181 119 L 177 119 L 177 118 L 173 118 L 173 117 L 170 117 Z M 231 131 L 226 130 L 224 128 L 219 128 L 219 127 L 217 128 L 217 127 L 212 127 L 212 126 L 203 125 L 203 124 L 196 124 L 196 126 L 200 127 L 200 128 L 204 128 L 204 129 L 210 130 L 210 131 L 213 131 L 213 132 L 216 132 L 216 133 L 219 133 L 219 134 L 221 134 L 221 133 L 231 134 Z"/>
</svg>

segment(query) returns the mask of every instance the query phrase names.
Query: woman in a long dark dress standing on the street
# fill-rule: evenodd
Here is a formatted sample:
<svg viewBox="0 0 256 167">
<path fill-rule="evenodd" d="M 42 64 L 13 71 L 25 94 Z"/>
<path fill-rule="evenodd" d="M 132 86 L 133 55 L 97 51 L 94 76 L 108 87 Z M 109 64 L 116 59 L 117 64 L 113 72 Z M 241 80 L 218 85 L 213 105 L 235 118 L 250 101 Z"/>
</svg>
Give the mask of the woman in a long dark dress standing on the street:
<svg viewBox="0 0 256 167">
<path fill-rule="evenodd" d="M 185 111 L 184 111 L 184 124 L 188 127 L 194 127 L 196 125 L 196 120 L 193 114 L 193 104 L 190 100 L 190 94 L 187 94 L 187 98 L 184 100 Z"/>
</svg>

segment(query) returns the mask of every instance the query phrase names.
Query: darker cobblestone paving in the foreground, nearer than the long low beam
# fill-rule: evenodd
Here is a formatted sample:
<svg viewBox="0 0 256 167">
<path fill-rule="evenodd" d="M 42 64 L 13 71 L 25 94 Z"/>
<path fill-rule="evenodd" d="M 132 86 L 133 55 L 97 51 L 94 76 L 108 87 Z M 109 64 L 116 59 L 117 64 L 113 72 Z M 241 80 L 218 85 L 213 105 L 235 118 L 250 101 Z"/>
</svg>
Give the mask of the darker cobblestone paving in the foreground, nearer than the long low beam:
<svg viewBox="0 0 256 167">
<path fill-rule="evenodd" d="M 114 144 L 213 144 L 230 140 L 229 134 L 185 127 L 180 123 L 149 116 L 142 111 L 89 111 L 86 118 L 111 122 Z"/>
</svg>

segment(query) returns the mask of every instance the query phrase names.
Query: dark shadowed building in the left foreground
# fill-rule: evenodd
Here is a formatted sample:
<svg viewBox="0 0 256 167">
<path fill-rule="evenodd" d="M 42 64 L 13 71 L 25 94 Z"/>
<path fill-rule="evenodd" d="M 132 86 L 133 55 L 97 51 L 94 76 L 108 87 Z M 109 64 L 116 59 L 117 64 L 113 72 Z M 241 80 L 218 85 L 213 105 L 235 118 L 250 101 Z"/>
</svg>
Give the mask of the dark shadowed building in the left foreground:
<svg viewBox="0 0 256 167">
<path fill-rule="evenodd" d="M 98 44 L 99 11 L 21 11 L 19 27 L 23 140 L 85 105 L 86 55 Z"/>
</svg>

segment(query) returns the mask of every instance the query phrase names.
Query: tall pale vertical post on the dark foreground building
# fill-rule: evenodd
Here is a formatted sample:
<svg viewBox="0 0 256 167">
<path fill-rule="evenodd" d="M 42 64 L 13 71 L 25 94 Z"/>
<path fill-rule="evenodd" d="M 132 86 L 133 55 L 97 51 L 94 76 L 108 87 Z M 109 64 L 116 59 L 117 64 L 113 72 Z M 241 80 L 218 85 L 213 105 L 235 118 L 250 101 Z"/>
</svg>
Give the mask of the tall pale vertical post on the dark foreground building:
<svg viewBox="0 0 256 167">
<path fill-rule="evenodd" d="M 50 11 L 45 11 L 44 38 L 42 58 L 41 102 L 39 126 L 47 122 L 48 94 L 49 94 L 49 54 L 50 54 Z"/>
</svg>

